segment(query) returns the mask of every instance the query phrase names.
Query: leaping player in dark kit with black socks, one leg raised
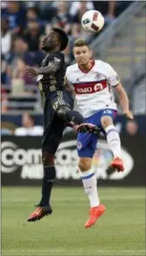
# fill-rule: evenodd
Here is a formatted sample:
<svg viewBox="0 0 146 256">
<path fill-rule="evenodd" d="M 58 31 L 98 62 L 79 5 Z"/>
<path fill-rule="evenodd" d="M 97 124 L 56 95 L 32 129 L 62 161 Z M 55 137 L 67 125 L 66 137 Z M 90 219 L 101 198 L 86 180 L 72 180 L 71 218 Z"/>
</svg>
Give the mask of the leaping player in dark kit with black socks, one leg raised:
<svg viewBox="0 0 146 256">
<path fill-rule="evenodd" d="M 68 43 L 66 33 L 59 28 L 52 28 L 45 36 L 42 49 L 46 52 L 41 68 L 26 67 L 30 77 L 38 77 L 38 88 L 44 102 L 44 135 L 42 141 L 42 161 L 44 178 L 42 198 L 36 210 L 27 219 L 35 222 L 52 214 L 50 198 L 55 179 L 54 155 L 59 147 L 66 124 L 78 132 L 98 133 L 98 128 L 86 123 L 83 116 L 73 110 L 73 99 L 66 92 L 66 62 L 61 51 Z"/>
</svg>

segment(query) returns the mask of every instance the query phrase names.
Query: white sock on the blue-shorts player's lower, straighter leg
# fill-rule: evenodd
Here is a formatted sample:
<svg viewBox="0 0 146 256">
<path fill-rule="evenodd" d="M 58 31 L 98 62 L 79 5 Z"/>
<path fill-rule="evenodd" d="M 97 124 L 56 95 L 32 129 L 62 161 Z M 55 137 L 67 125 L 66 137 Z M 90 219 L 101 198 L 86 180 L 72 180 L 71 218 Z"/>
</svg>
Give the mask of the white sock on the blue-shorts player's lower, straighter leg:
<svg viewBox="0 0 146 256">
<path fill-rule="evenodd" d="M 94 171 L 80 172 L 85 193 L 88 195 L 91 208 L 99 206 L 100 200 L 97 192 L 97 180 Z"/>
</svg>

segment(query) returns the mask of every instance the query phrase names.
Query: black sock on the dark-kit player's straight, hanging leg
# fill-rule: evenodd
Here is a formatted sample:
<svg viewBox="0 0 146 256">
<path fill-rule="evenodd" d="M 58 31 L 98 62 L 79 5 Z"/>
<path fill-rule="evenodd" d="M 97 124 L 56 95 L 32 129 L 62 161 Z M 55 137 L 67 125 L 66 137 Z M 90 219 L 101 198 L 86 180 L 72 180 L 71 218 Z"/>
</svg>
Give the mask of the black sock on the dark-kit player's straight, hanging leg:
<svg viewBox="0 0 146 256">
<path fill-rule="evenodd" d="M 50 204 L 50 197 L 52 192 L 52 186 L 56 177 L 55 166 L 44 167 L 44 178 L 42 183 L 42 198 L 39 202 L 39 206 L 46 206 Z"/>
</svg>

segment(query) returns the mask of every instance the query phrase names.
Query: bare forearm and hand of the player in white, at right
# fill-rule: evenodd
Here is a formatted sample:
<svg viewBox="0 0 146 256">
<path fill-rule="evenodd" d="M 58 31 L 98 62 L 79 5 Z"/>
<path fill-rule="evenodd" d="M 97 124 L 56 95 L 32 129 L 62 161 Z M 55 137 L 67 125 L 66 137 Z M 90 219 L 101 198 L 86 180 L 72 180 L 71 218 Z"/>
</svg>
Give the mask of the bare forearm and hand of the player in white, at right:
<svg viewBox="0 0 146 256">
<path fill-rule="evenodd" d="M 122 84 L 115 86 L 115 91 L 118 92 L 118 97 L 120 105 L 122 106 L 122 111 L 126 114 L 129 119 L 133 119 L 133 113 L 129 111 L 129 98 L 126 91 L 123 89 Z"/>
</svg>

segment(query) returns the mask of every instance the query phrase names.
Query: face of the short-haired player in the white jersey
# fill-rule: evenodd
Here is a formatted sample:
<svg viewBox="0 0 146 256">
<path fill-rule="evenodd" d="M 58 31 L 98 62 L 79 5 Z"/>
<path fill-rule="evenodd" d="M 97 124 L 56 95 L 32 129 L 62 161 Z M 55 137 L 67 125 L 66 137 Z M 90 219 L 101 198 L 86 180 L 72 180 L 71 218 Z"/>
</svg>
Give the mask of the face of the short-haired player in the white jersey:
<svg viewBox="0 0 146 256">
<path fill-rule="evenodd" d="M 79 65 L 87 65 L 91 60 L 92 51 L 87 46 L 75 47 L 73 48 L 73 55 Z"/>
</svg>

